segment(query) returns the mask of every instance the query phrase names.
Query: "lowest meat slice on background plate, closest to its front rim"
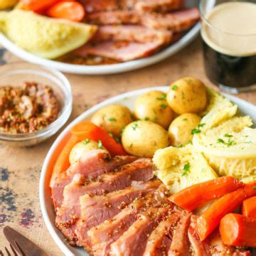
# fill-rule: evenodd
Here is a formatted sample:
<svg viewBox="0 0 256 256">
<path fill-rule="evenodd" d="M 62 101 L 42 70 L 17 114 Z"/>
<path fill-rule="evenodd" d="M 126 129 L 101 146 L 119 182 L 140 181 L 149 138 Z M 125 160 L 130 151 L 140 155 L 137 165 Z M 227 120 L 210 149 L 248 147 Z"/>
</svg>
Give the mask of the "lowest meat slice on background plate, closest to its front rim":
<svg viewBox="0 0 256 256">
<path fill-rule="evenodd" d="M 75 54 L 85 58 L 88 54 L 113 60 L 125 62 L 138 58 L 148 57 L 155 53 L 162 46 L 159 42 L 137 43 L 137 42 L 105 42 L 93 46 L 86 44 L 75 50 Z"/>
</svg>

